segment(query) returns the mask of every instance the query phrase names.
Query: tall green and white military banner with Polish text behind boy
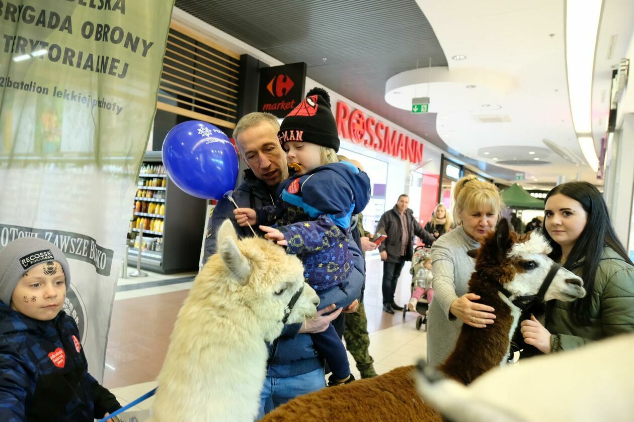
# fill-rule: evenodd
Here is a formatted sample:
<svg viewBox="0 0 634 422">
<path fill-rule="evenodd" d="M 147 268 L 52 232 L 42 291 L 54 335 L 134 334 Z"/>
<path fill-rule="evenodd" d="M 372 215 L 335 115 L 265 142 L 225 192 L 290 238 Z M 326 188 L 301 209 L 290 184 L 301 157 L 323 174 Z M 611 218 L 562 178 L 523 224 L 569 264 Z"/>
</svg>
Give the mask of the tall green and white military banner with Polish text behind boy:
<svg viewBox="0 0 634 422">
<path fill-rule="evenodd" d="M 173 3 L 0 1 L 0 249 L 36 236 L 66 254 L 64 310 L 98 380 Z"/>
</svg>

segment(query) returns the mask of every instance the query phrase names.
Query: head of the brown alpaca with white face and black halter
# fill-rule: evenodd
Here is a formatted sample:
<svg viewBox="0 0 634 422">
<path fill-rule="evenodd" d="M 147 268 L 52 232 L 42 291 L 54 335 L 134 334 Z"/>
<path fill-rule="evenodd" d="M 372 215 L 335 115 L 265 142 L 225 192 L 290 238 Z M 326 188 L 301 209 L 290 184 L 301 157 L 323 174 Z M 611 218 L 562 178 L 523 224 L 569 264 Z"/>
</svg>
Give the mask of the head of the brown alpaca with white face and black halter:
<svg viewBox="0 0 634 422">
<path fill-rule="evenodd" d="M 536 295 L 554 264 L 548 258 L 552 248 L 541 233 L 517 235 L 502 219 L 483 241 L 475 271 L 496 280 L 514 297 Z M 583 280 L 565 268 L 559 268 L 544 295 L 545 301 L 574 301 L 586 294 Z"/>
</svg>

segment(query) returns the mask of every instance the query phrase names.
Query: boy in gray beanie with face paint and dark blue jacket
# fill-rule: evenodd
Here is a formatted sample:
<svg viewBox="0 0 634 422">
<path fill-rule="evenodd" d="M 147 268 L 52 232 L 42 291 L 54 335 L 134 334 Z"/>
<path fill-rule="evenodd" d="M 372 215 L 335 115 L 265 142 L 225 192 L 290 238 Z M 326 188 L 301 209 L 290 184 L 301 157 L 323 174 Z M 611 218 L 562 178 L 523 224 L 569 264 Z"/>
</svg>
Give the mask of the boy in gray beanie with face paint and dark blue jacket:
<svg viewBox="0 0 634 422">
<path fill-rule="evenodd" d="M 68 261 L 51 242 L 22 237 L 0 250 L 0 421 L 88 422 L 121 407 L 88 373 L 62 310 L 68 286 Z"/>
</svg>

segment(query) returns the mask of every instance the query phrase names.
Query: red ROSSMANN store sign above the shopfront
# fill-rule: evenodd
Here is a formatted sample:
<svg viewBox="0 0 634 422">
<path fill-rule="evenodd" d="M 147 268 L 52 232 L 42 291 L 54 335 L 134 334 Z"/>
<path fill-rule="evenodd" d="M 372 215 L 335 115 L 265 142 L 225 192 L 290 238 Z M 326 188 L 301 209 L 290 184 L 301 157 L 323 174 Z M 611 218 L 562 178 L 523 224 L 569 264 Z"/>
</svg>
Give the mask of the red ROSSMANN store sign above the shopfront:
<svg viewBox="0 0 634 422">
<path fill-rule="evenodd" d="M 366 116 L 363 111 L 351 111 L 345 102 L 339 101 L 336 116 L 340 137 L 414 164 L 423 161 L 423 144 L 372 116 Z"/>
</svg>

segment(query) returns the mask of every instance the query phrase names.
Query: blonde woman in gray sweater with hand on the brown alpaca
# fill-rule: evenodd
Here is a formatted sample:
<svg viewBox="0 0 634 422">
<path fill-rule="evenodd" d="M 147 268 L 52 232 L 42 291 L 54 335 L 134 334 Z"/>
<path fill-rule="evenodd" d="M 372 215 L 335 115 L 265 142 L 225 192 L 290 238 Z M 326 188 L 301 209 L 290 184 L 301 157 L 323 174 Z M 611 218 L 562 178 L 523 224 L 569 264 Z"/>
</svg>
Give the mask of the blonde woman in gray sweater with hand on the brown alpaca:
<svg viewBox="0 0 634 422">
<path fill-rule="evenodd" d="M 504 207 L 500 191 L 489 182 L 470 175 L 458 180 L 453 213 L 462 225 L 432 246 L 434 301 L 427 323 L 427 363 L 443 363 L 455 347 L 462 324 L 485 328 L 495 321 L 495 309 L 474 301 L 467 293 L 475 261 L 467 252 L 480 247 L 478 240 L 495 229 Z"/>
</svg>

